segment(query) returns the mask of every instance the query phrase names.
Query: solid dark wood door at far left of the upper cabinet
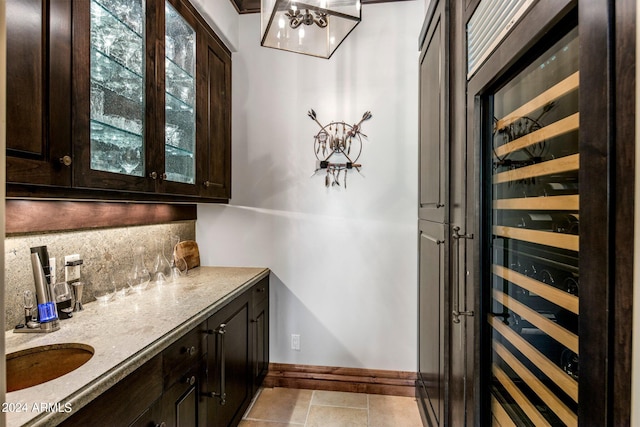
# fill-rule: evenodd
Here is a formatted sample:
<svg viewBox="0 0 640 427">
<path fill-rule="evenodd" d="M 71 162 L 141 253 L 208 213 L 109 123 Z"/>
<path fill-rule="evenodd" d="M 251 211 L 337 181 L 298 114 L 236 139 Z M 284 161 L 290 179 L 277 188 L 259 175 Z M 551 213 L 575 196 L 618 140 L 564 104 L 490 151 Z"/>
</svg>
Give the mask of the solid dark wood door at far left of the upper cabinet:
<svg viewBox="0 0 640 427">
<path fill-rule="evenodd" d="M 69 186 L 71 4 L 9 0 L 7 182 Z"/>
</svg>

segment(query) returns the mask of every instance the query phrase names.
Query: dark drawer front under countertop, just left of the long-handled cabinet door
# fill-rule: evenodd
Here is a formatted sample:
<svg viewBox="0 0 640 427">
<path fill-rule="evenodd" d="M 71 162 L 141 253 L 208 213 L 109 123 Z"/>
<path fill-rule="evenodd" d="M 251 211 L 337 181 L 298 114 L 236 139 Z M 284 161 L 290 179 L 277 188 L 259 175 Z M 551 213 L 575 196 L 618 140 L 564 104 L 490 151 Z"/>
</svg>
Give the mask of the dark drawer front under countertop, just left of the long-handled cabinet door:
<svg viewBox="0 0 640 427">
<path fill-rule="evenodd" d="M 162 352 L 165 389 L 171 387 L 176 381 L 180 381 L 202 357 L 204 352 L 202 341 L 205 339 L 202 329 L 202 326 L 197 326 Z"/>
</svg>

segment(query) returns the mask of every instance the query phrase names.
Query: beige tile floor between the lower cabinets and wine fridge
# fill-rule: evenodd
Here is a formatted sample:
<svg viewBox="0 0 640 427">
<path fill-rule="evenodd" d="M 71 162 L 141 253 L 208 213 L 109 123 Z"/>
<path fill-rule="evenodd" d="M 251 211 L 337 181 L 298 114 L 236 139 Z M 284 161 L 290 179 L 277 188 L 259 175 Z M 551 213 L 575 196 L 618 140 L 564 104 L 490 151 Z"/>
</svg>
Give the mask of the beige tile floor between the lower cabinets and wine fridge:
<svg viewBox="0 0 640 427">
<path fill-rule="evenodd" d="M 422 427 L 412 397 L 264 388 L 239 427 Z"/>
</svg>

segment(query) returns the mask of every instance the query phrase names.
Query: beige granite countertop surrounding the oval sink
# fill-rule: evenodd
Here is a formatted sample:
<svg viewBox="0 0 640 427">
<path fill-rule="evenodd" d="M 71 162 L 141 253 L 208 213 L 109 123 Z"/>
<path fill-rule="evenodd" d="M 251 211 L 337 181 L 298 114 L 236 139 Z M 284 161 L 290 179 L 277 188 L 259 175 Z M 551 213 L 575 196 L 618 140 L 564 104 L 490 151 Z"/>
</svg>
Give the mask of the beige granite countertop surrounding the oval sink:
<svg viewBox="0 0 640 427">
<path fill-rule="evenodd" d="M 7 393 L 7 426 L 57 425 L 268 274 L 266 268 L 198 267 L 175 283 L 84 304 L 56 332 L 7 331 L 7 354 L 59 343 L 95 350 L 87 363 L 60 378 Z"/>
</svg>

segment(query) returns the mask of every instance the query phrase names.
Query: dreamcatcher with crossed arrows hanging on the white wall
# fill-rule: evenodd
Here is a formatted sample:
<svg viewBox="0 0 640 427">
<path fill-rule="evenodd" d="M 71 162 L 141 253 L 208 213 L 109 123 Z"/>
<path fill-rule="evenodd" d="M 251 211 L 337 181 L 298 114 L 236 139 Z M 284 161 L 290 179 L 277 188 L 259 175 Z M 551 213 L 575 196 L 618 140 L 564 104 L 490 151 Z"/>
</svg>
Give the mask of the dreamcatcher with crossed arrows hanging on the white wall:
<svg viewBox="0 0 640 427">
<path fill-rule="evenodd" d="M 367 138 L 367 135 L 360 131 L 360 126 L 372 117 L 371 112 L 364 113 L 354 125 L 344 121 L 322 125 L 315 111 L 309 110 L 307 114 L 320 126 L 320 131 L 313 137 L 313 151 L 318 159 L 313 175 L 326 170 L 325 186 L 347 188 L 349 171 L 355 169 L 361 173 L 358 159 L 362 154 L 362 137 Z"/>
</svg>

